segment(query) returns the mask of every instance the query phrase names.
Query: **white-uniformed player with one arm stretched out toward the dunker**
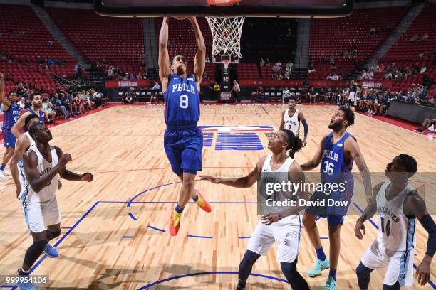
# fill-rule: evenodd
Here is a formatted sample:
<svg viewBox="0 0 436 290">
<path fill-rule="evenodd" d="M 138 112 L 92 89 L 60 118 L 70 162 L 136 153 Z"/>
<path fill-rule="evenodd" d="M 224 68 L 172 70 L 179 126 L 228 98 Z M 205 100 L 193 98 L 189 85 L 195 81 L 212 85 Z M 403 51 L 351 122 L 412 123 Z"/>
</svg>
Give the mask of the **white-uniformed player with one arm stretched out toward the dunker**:
<svg viewBox="0 0 436 290">
<path fill-rule="evenodd" d="M 292 289 L 306 290 L 307 282 L 296 269 L 297 256 L 299 252 L 301 219 L 298 206 L 278 207 L 271 201 L 285 200 L 286 194 L 279 190 L 269 193 L 268 184 L 291 181 L 293 183 L 304 182 L 303 171 L 299 164 L 286 154 L 287 150 L 299 151 L 302 141 L 289 130 L 280 130 L 274 133 L 269 139 L 268 148 L 272 154 L 262 157 L 248 176 L 240 178 L 216 178 L 212 176 L 201 176 L 212 183 L 222 183 L 227 186 L 238 188 L 251 187 L 258 178 L 259 198 L 263 201 L 263 214 L 261 220 L 251 235 L 249 246 L 244 258 L 239 264 L 239 281 L 237 289 L 246 289 L 246 280 L 251 269 L 261 255 L 265 255 L 274 242 L 277 243 L 277 261 Z M 270 188 L 271 189 L 271 188 Z M 295 193 L 294 193 L 295 194 Z M 308 193 L 299 191 L 292 198 L 303 198 L 308 200 Z M 269 200 L 269 202 L 267 201 Z"/>
</svg>

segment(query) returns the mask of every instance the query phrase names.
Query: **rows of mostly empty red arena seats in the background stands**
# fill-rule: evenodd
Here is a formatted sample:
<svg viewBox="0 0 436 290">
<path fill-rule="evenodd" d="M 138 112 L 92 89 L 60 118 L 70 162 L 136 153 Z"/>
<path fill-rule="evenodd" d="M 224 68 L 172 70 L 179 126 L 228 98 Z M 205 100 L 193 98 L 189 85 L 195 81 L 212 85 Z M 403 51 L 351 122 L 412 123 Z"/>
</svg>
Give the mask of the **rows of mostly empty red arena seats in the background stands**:
<svg viewBox="0 0 436 290">
<path fill-rule="evenodd" d="M 354 60 L 364 61 L 389 35 L 385 33 L 370 33 L 370 28 L 378 31 L 383 28 L 393 30 L 405 16 L 408 7 L 355 9 L 351 16 L 345 18 L 315 18 L 311 22 L 311 37 L 309 57 L 315 68 L 308 75 L 309 80 L 325 80 L 327 75 L 341 73 L 347 75 L 355 70 Z M 36 16 L 30 6 L 0 4 L 0 53 L 14 60 L 0 60 L 0 71 L 6 73 L 6 90 L 14 89 L 19 82 L 28 82 L 41 90 L 53 91 L 56 82 L 51 80 L 53 72 L 65 77 L 74 74 L 75 60 L 68 54 L 58 41 L 51 35 L 46 26 Z M 144 59 L 142 36 L 142 21 L 140 18 L 109 18 L 98 16 L 90 9 L 46 8 L 53 21 L 65 33 L 78 51 L 90 61 L 111 63 L 121 70 L 137 74 L 142 72 Z M 429 68 L 430 77 L 435 78 L 436 72 L 432 66 L 431 56 L 436 47 L 436 26 L 431 25 L 436 15 L 436 4 L 426 4 L 420 15 L 381 61 L 383 63 L 402 63 L 412 65 L 417 61 L 425 63 Z M 198 18 L 199 26 L 204 34 L 207 54 L 212 52 L 212 35 L 204 18 Z M 157 36 L 162 23 L 156 21 Z M 177 25 L 176 25 L 177 22 Z M 249 29 L 249 28 L 247 28 Z M 243 33 L 250 33 L 243 31 Z M 427 33 L 427 41 L 409 41 L 414 35 Z M 53 41 L 52 46 L 47 41 Z M 170 23 L 170 56 L 183 54 L 190 61 L 194 60 L 194 31 L 189 21 Z M 251 48 L 256 43 L 247 43 Z M 344 52 L 353 52 L 351 55 Z M 416 60 L 418 53 L 424 52 L 427 58 Z M 348 55 L 347 55 L 348 54 Z M 333 56 L 336 68 L 329 63 Z M 38 65 L 37 60 L 44 63 L 50 58 L 65 60 L 66 65 Z M 271 62 L 274 62 L 271 55 Z M 260 59 L 260 58 L 259 58 Z M 243 61 L 243 59 L 242 59 Z M 286 63 L 284 63 L 285 65 Z M 282 70 L 284 69 L 282 65 Z M 237 65 L 239 79 L 268 78 L 271 67 L 259 70 L 257 63 L 239 63 Z M 207 64 L 207 75 L 214 79 L 215 66 Z M 401 82 L 398 87 L 408 86 L 419 80 Z"/>
</svg>

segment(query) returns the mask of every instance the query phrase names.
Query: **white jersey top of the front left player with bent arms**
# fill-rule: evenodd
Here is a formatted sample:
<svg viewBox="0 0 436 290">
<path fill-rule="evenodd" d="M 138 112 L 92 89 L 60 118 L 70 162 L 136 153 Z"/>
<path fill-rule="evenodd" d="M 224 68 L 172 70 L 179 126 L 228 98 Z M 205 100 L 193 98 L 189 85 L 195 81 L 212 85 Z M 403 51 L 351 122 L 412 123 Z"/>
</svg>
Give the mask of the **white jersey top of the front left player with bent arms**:
<svg viewBox="0 0 436 290">
<path fill-rule="evenodd" d="M 53 146 L 50 146 L 51 150 L 51 162 L 46 161 L 46 159 L 43 158 L 41 152 L 39 152 L 38 148 L 36 146 L 31 146 L 28 151 L 33 151 L 36 153 L 36 156 L 38 156 L 38 172 L 39 176 L 44 176 L 48 173 L 48 171 L 51 171 L 51 168 L 53 166 L 56 166 L 58 163 L 58 154 L 56 154 L 56 149 Z M 51 180 L 51 183 L 41 189 L 38 193 L 36 193 L 33 188 L 31 188 L 30 184 L 26 184 L 26 189 L 21 195 L 21 200 L 23 200 L 26 203 L 33 203 L 33 202 L 45 202 L 48 200 L 52 200 L 55 198 L 56 190 L 58 188 L 58 175 L 56 174 L 53 179 Z"/>
</svg>

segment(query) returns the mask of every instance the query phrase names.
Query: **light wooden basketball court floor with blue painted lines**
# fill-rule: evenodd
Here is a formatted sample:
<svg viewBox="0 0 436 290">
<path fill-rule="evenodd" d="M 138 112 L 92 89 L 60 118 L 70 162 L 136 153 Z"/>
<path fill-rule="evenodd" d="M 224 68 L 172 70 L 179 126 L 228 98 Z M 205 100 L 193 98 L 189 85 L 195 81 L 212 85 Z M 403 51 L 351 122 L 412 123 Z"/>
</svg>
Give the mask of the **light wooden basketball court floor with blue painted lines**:
<svg viewBox="0 0 436 290">
<path fill-rule="evenodd" d="M 202 105 L 199 124 L 278 128 L 282 109 L 281 105 Z M 308 144 L 296 154 L 296 160 L 304 163 L 329 132 L 327 125 L 336 107 L 306 105 L 299 109 L 309 124 Z M 51 128 L 51 144 L 73 156 L 68 168 L 78 173 L 90 171 L 95 177 L 93 183 L 63 180 L 63 188 L 58 190 L 63 230 L 54 242 L 61 257 L 42 257 L 36 262 L 33 274 L 50 278 L 43 289 L 234 289 L 248 237 L 260 218 L 256 215 L 256 186 L 238 189 L 198 182 L 205 198 L 212 201 L 213 211 L 204 213 L 191 203 L 182 215 L 179 234 L 171 237 L 167 224 L 180 184 L 163 149 L 162 110 L 162 105 L 117 106 Z M 358 139 L 372 172 L 383 172 L 401 153 L 414 156 L 420 172 L 435 170 L 435 141 L 426 136 L 362 114 L 356 114 L 355 126 L 349 131 Z M 222 142 L 217 140 L 218 132 L 205 133 L 209 141 L 203 151 L 202 174 L 243 176 L 261 156 L 269 154 L 267 131 L 253 132 L 263 150 L 254 150 L 259 149 L 259 142 L 249 144 L 254 146 L 249 150 L 224 150 L 234 144 L 217 146 Z M 0 154 L 4 154 L 3 146 Z M 12 179 L 1 181 L 0 190 L 0 273 L 16 274 L 31 237 Z M 358 206 L 365 208 L 363 200 Z M 367 222 L 365 239 L 354 237 L 357 208 L 356 215 L 347 216 L 342 230 L 338 289 L 358 289 L 355 267 L 377 233 Z M 328 254 L 326 221 L 319 220 L 318 227 Z M 416 235 L 417 265 L 425 253 L 427 233 L 418 225 Z M 303 230 L 299 271 L 312 289 L 322 289 L 328 271 L 317 278 L 305 274 L 315 258 Z M 370 289 L 381 288 L 384 273 L 373 272 Z M 276 262 L 275 247 L 259 259 L 253 274 L 248 289 L 290 289 Z M 435 274 L 432 263 L 430 279 L 436 282 Z M 415 282 L 414 289 L 418 288 Z"/>
</svg>

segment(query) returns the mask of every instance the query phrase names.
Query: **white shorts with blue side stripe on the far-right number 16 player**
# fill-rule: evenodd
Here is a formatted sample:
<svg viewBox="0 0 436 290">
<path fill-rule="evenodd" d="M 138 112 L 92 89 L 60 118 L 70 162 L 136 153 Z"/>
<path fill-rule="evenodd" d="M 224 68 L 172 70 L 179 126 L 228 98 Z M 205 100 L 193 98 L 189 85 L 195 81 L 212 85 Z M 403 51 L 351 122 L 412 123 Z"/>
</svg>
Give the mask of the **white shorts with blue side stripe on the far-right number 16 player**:
<svg viewBox="0 0 436 290">
<path fill-rule="evenodd" d="M 375 241 L 363 254 L 362 264 L 374 270 L 388 267 L 383 284 L 393 285 L 398 280 L 400 286 L 411 287 L 414 256 L 414 249 L 406 252 L 389 251 Z"/>
</svg>

